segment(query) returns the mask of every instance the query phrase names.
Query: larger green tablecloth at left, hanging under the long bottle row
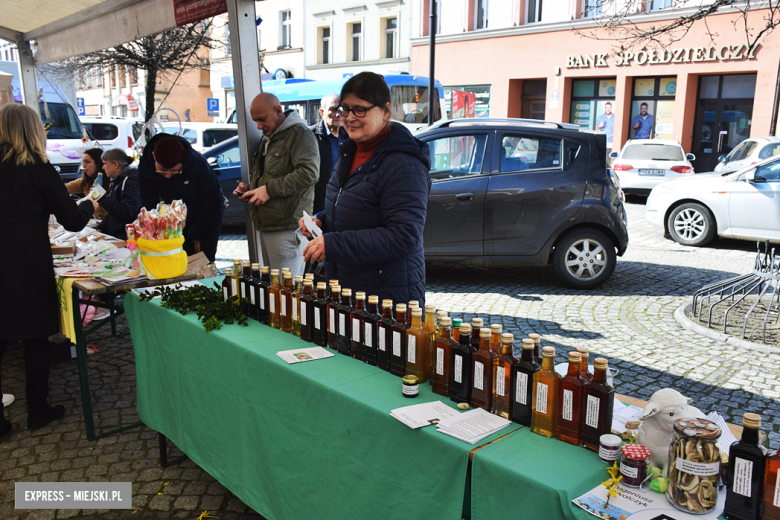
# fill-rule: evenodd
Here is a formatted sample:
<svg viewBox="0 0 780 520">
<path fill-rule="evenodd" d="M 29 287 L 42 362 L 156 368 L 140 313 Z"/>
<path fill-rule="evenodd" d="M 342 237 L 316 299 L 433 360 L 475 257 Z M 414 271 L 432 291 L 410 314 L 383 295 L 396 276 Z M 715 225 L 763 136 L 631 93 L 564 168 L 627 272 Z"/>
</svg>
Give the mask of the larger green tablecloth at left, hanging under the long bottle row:
<svg viewBox="0 0 780 520">
<path fill-rule="evenodd" d="M 124 305 L 141 419 L 263 516 L 461 518 L 475 446 L 389 415 L 439 399 L 428 385 L 405 399 L 399 378 L 338 354 L 288 365 L 277 351 L 311 344 L 253 320 L 206 333 L 159 300 Z"/>
</svg>

